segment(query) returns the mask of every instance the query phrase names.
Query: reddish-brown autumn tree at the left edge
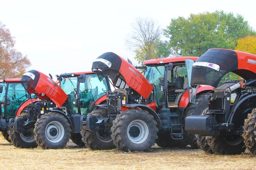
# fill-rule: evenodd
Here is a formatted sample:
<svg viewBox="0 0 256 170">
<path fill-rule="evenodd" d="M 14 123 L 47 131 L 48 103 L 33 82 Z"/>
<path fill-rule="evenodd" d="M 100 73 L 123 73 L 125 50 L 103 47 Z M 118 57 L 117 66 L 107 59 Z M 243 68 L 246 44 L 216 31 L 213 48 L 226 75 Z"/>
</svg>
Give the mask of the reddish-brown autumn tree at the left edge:
<svg viewBox="0 0 256 170">
<path fill-rule="evenodd" d="M 21 77 L 31 63 L 14 48 L 15 40 L 0 22 L 0 79 Z"/>
</svg>

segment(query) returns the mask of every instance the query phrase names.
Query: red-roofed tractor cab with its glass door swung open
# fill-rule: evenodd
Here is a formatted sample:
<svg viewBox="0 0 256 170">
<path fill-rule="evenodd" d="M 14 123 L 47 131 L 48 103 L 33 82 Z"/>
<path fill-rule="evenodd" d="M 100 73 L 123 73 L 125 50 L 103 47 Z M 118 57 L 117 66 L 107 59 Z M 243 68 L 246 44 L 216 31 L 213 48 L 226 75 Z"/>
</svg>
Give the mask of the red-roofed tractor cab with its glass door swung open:
<svg viewBox="0 0 256 170">
<path fill-rule="evenodd" d="M 195 95 L 191 95 L 195 89 L 190 86 L 190 80 L 192 64 L 196 59 L 198 57 L 171 57 L 144 61 L 146 65 L 144 77 L 156 89 L 159 108 L 163 107 L 163 103 L 166 104 L 166 108 L 179 107 L 180 99 L 188 89 L 190 89 L 190 93 L 187 94 L 189 101 L 195 102 Z"/>
</svg>

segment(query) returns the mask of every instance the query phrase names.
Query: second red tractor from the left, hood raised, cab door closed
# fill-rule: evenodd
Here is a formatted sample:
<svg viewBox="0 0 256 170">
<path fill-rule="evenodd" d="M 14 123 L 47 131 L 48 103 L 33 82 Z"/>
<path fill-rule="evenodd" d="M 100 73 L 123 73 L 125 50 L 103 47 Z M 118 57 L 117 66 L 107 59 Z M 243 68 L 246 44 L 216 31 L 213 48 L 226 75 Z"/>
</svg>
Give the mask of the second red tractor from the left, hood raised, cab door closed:
<svg viewBox="0 0 256 170">
<path fill-rule="evenodd" d="M 28 105 L 28 113 L 9 120 L 13 136 L 20 133 L 35 136 L 33 144 L 20 147 L 61 148 L 69 139 L 81 146 L 80 117 L 90 113 L 96 105 L 106 103 L 108 79 L 99 81 L 93 72 L 69 73 L 57 76 L 58 86 L 51 78 L 31 70 L 21 78 L 29 94 L 41 101 Z M 103 105 L 104 106 L 104 105 Z M 17 141 L 20 142 L 20 141 Z"/>
</svg>

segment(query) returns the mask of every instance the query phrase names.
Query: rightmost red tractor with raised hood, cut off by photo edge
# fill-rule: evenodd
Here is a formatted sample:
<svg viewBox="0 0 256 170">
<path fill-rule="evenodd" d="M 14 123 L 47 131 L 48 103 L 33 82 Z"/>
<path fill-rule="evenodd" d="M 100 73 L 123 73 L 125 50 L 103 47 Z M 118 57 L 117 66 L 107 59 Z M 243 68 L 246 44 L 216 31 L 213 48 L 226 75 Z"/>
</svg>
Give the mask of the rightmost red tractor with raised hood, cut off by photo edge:
<svg viewBox="0 0 256 170">
<path fill-rule="evenodd" d="M 209 49 L 193 64 L 191 85 L 215 87 L 207 94 L 209 108 L 203 115 L 186 117 L 185 130 L 198 134 L 204 151 L 240 154 L 247 147 L 256 153 L 255 66 L 256 55 L 227 49 Z M 220 84 L 229 72 L 243 79 Z"/>
</svg>

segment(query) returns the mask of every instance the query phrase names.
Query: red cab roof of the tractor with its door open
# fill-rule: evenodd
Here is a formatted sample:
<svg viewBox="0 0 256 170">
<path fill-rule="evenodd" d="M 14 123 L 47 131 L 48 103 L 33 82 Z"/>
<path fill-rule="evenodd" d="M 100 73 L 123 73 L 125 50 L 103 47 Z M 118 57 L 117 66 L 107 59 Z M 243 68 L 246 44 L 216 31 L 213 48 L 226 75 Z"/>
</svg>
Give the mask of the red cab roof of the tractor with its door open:
<svg viewBox="0 0 256 170">
<path fill-rule="evenodd" d="M 165 64 L 170 62 L 184 62 L 185 59 L 197 60 L 199 57 L 168 57 L 168 58 L 158 58 L 158 59 L 148 59 L 143 62 L 143 65 L 151 64 Z"/>
</svg>

